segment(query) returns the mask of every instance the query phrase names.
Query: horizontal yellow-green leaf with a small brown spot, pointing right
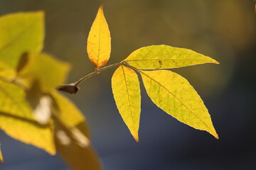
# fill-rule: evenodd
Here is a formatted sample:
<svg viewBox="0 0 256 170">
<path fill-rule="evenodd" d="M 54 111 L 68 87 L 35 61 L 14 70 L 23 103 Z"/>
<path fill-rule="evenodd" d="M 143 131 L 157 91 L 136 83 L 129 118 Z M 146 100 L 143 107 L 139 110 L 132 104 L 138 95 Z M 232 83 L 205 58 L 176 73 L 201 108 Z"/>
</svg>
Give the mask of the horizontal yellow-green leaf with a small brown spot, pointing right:
<svg viewBox="0 0 256 170">
<path fill-rule="evenodd" d="M 192 50 L 168 45 L 151 45 L 139 48 L 132 52 L 124 62 L 138 69 L 171 69 L 204 63 L 219 64 L 210 57 Z"/>
</svg>

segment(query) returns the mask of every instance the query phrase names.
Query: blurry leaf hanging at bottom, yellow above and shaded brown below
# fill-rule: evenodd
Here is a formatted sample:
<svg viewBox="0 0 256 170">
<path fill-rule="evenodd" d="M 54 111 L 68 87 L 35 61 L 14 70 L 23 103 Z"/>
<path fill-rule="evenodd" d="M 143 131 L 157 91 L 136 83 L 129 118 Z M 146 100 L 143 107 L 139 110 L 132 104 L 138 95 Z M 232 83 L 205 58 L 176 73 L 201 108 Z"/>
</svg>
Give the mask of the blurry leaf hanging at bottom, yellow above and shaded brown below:
<svg viewBox="0 0 256 170">
<path fill-rule="evenodd" d="M 80 110 L 65 96 L 52 91 L 55 101 L 55 145 L 72 169 L 101 169 L 90 147 L 89 130 Z"/>
</svg>

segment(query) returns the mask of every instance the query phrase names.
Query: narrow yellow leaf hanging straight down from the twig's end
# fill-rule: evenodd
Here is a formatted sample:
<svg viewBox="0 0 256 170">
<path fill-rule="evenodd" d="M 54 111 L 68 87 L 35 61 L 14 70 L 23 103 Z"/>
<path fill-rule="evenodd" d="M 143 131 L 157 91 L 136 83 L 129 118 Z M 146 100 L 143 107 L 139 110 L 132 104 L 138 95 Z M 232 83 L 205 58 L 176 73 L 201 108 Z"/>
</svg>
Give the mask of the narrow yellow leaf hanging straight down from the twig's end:
<svg viewBox="0 0 256 170">
<path fill-rule="evenodd" d="M 141 96 L 137 74 L 127 67 L 118 67 L 112 77 L 112 91 L 124 123 L 138 142 Z"/>
</svg>

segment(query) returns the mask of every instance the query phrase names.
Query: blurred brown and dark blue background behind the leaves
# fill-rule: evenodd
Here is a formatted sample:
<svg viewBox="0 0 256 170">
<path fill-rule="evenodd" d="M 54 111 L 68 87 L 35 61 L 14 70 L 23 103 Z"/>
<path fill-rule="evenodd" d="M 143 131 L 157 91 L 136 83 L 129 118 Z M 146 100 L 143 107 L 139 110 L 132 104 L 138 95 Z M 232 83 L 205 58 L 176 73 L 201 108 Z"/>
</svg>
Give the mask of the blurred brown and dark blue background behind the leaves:
<svg viewBox="0 0 256 170">
<path fill-rule="evenodd" d="M 111 90 L 114 69 L 67 95 L 87 118 L 92 145 L 106 170 L 256 169 L 256 13 L 252 0 L 0 0 L 0 15 L 46 12 L 44 51 L 73 64 L 68 82 L 94 71 L 87 35 L 104 4 L 112 34 L 107 64 L 147 45 L 184 47 L 220 62 L 173 69 L 205 102 L 220 140 L 161 111 L 142 86 L 137 143 L 119 115 Z M 53 73 L 54 74 L 54 73 Z M 142 84 L 141 84 L 142 85 Z M 52 157 L 0 132 L 3 170 L 68 169 Z M 82 158 L 81 158 L 82 159 Z"/>
</svg>

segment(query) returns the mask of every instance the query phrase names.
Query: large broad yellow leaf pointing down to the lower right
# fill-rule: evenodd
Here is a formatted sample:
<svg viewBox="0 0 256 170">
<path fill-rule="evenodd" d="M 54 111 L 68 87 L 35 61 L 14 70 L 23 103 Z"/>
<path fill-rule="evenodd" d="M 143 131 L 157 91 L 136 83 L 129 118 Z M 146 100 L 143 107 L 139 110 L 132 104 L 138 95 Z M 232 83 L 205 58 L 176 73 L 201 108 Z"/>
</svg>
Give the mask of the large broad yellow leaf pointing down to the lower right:
<svg viewBox="0 0 256 170">
<path fill-rule="evenodd" d="M 195 89 L 180 75 L 167 71 L 139 71 L 146 93 L 169 115 L 218 139 L 206 106 Z"/>
</svg>

